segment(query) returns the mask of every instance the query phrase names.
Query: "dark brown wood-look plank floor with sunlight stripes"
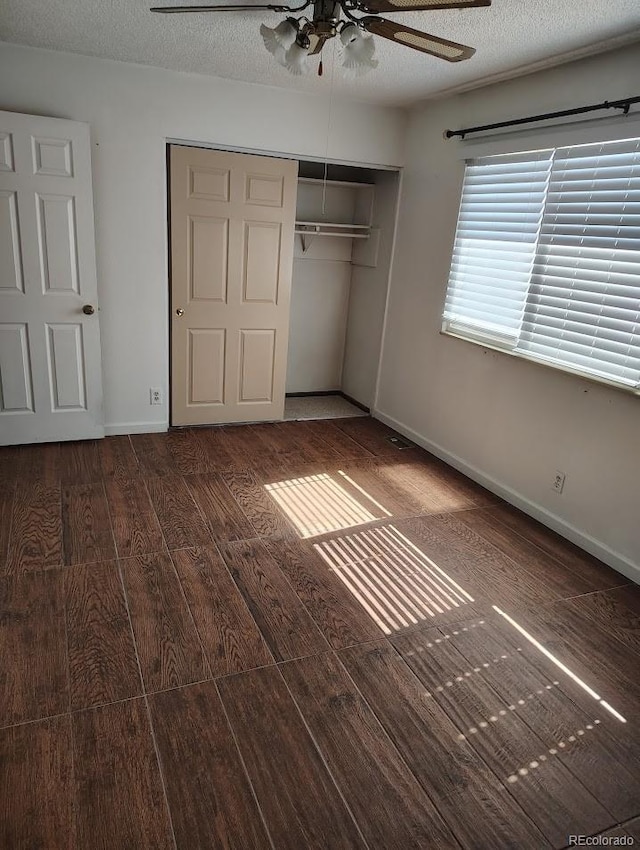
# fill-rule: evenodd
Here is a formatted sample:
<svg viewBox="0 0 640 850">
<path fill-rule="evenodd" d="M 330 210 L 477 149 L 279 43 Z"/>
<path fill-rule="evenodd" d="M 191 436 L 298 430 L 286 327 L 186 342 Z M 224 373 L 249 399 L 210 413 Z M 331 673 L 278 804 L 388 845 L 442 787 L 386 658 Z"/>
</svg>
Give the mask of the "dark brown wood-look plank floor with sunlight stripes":
<svg viewBox="0 0 640 850">
<path fill-rule="evenodd" d="M 0 449 L 0 847 L 640 840 L 640 588 L 389 433 Z"/>
</svg>

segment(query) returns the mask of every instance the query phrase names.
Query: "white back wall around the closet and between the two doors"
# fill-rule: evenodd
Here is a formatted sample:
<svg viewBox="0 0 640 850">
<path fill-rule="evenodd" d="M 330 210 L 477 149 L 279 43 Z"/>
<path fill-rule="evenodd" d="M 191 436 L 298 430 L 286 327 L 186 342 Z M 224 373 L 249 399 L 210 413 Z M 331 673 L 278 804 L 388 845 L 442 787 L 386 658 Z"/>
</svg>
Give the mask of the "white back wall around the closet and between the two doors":
<svg viewBox="0 0 640 850">
<path fill-rule="evenodd" d="M 328 97 L 0 44 L 0 108 L 91 125 L 105 422 L 165 428 L 166 140 L 322 158 Z M 331 126 L 330 159 L 401 164 L 404 113 L 334 99 Z"/>
</svg>

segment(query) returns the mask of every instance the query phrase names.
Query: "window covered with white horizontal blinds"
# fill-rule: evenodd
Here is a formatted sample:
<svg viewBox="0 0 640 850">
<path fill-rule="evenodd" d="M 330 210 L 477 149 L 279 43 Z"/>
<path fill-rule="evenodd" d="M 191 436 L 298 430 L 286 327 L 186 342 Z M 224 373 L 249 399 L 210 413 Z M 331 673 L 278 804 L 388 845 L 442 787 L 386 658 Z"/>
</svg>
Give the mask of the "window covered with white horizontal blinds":
<svg viewBox="0 0 640 850">
<path fill-rule="evenodd" d="M 640 392 L 640 139 L 467 162 L 442 329 Z"/>
</svg>

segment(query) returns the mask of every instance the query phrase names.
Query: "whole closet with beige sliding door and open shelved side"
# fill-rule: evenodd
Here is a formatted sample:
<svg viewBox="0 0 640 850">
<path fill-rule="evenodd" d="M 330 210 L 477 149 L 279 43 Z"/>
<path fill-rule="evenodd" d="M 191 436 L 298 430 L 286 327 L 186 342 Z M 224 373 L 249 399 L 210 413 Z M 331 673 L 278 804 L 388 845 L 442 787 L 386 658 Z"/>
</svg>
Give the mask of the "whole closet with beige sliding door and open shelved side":
<svg viewBox="0 0 640 850">
<path fill-rule="evenodd" d="M 398 172 L 168 153 L 171 424 L 280 420 L 285 394 L 371 408 Z"/>
</svg>

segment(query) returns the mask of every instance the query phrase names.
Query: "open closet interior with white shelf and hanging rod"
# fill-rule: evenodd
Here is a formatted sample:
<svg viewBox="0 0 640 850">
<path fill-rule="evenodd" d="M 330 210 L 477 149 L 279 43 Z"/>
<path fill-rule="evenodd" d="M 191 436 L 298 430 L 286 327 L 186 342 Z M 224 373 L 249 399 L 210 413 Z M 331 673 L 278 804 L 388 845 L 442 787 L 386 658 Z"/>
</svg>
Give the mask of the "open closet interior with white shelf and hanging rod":
<svg viewBox="0 0 640 850">
<path fill-rule="evenodd" d="M 300 162 L 288 396 L 339 392 L 373 404 L 399 175 Z"/>
</svg>

